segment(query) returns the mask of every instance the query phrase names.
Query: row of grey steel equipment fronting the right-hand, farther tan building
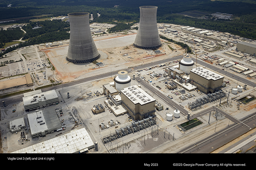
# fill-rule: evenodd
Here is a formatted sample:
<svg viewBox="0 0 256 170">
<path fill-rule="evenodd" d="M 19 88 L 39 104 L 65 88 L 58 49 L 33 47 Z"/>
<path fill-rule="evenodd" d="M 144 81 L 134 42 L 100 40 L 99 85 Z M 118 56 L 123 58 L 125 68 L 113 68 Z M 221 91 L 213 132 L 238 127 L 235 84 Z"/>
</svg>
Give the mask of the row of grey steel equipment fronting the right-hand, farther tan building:
<svg viewBox="0 0 256 170">
<path fill-rule="evenodd" d="M 196 99 L 194 102 L 188 103 L 189 109 L 191 111 L 195 111 L 197 109 L 202 108 L 202 105 L 207 104 L 208 102 L 218 102 L 218 100 L 220 100 L 221 102 L 221 99 L 223 99 L 226 96 L 227 94 L 222 90 L 216 91 L 212 94 L 207 94 L 207 96 L 203 96 L 199 99 Z"/>
</svg>

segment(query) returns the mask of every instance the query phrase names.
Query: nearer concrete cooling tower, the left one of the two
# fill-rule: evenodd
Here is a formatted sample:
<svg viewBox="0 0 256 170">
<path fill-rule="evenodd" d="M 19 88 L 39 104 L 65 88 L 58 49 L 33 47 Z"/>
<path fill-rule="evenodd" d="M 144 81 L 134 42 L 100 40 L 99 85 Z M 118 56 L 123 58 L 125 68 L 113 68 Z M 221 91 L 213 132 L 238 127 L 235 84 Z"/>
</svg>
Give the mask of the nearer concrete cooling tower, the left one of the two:
<svg viewBox="0 0 256 170">
<path fill-rule="evenodd" d="M 67 61 L 73 63 L 93 62 L 100 54 L 93 41 L 89 25 L 89 13 L 75 12 L 68 14 L 70 21 L 70 43 Z"/>
</svg>

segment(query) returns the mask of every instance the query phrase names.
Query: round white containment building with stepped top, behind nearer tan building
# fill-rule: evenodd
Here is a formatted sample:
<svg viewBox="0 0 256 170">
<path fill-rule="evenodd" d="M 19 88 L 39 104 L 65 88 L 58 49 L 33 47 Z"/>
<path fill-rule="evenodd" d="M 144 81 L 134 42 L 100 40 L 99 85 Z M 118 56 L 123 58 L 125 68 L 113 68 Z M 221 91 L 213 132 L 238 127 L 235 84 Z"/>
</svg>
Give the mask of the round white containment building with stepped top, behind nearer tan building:
<svg viewBox="0 0 256 170">
<path fill-rule="evenodd" d="M 114 78 L 114 82 L 116 90 L 121 91 L 131 86 L 131 77 L 128 76 L 127 71 L 119 71 L 118 76 Z"/>
</svg>

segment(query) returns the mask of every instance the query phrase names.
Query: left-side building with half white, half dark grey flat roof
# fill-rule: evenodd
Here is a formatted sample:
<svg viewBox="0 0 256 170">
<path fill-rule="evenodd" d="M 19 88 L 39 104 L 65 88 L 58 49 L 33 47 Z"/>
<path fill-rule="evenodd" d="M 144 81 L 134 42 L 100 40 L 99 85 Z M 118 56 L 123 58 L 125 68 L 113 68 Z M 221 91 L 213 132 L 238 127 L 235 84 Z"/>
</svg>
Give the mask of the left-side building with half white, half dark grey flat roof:
<svg viewBox="0 0 256 170">
<path fill-rule="evenodd" d="M 29 127 L 32 138 L 45 136 L 60 129 L 61 122 L 54 109 L 38 111 L 28 114 Z"/>
</svg>

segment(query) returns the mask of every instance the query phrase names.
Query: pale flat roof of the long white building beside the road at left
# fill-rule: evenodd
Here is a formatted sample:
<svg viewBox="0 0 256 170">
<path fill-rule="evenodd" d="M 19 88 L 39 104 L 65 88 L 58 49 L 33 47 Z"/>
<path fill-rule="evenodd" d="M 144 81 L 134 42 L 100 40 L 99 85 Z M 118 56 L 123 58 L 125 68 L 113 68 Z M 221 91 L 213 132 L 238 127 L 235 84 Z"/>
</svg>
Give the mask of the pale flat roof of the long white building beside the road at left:
<svg viewBox="0 0 256 170">
<path fill-rule="evenodd" d="M 58 95 L 57 95 L 56 91 L 51 90 L 51 91 L 46 91 L 46 92 L 42 92 L 39 94 L 33 94 L 31 96 L 23 97 L 23 103 L 24 103 L 24 105 L 30 105 L 33 102 L 45 101 L 45 100 L 54 99 L 57 97 L 58 97 Z"/>
</svg>

